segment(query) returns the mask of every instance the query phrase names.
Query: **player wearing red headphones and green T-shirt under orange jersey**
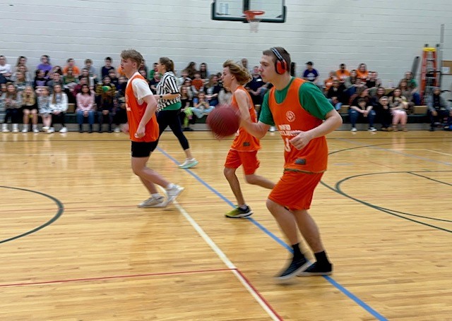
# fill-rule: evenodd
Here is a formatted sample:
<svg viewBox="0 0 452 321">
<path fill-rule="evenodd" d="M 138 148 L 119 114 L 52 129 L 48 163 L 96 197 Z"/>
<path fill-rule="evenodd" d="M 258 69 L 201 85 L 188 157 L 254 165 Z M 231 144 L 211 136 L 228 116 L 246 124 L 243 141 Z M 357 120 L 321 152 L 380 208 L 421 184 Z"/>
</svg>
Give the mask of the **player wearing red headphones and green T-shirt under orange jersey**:
<svg viewBox="0 0 452 321">
<path fill-rule="evenodd" d="M 258 123 L 244 119 L 246 131 L 257 138 L 278 126 L 285 146 L 284 173 L 268 195 L 268 210 L 273 214 L 293 248 L 293 257 L 276 279 L 295 275 L 329 275 L 329 262 L 319 229 L 308 211 L 314 188 L 328 161 L 325 135 L 342 123 L 342 118 L 314 83 L 290 75 L 290 54 L 275 47 L 263 52 L 259 68 L 264 81 L 273 84 L 263 99 Z M 314 252 L 314 264 L 304 258 L 299 247 L 301 232 Z"/>
</svg>

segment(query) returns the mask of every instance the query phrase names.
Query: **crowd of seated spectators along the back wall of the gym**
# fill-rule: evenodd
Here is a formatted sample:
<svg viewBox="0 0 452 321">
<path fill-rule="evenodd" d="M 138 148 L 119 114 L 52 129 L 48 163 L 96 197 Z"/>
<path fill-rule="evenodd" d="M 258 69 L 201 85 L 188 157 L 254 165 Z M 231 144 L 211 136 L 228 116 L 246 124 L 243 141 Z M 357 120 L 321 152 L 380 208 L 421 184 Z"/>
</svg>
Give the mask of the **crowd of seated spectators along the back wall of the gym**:
<svg viewBox="0 0 452 321">
<path fill-rule="evenodd" d="M 248 68 L 248 61 L 242 59 L 242 65 Z M 150 90 L 156 92 L 161 75 L 157 72 L 157 63 L 148 69 L 145 62 L 139 72 L 148 81 Z M 258 72 L 258 66 L 251 68 L 252 80 L 246 85 L 251 98 L 259 111 L 263 96 L 270 88 Z M 319 81 L 319 71 L 314 63 L 308 61 L 302 78 L 316 83 L 324 92 L 333 107 L 343 111 L 347 106 L 350 116 L 351 131 L 357 131 L 356 123 L 369 123 L 369 131 L 376 131 L 374 123 L 381 123 L 382 131 L 407 131 L 408 115 L 416 105 L 421 104 L 419 87 L 411 72 L 390 88 L 382 86 L 376 71 L 369 71 L 365 63 L 357 69 L 347 70 L 345 63 L 340 63 L 338 70 L 331 71 L 328 78 Z M 0 56 L 0 111 L 4 111 L 4 123 L 1 131 L 18 133 L 19 124 L 23 123 L 22 132 L 39 132 L 38 115 L 42 119 L 42 131 L 54 132 L 54 123 L 61 123 L 60 132 L 67 131 L 64 115 L 69 104 L 75 105 L 79 131 L 88 123 L 88 132 L 93 133 L 97 119 L 97 131 L 119 132 L 121 123 L 126 122 L 124 92 L 127 79 L 121 68 L 115 68 L 110 57 L 99 71 L 91 59 L 85 59 L 83 68 L 76 66 L 72 58 L 66 60 L 66 66 L 52 66 L 49 56 L 42 55 L 40 64 L 30 71 L 27 58 L 20 56 L 16 66 L 7 63 L 5 56 Z M 182 109 L 180 118 L 185 131 L 191 131 L 191 124 L 215 109 L 218 104 L 228 104 L 232 94 L 222 86 L 221 73 L 210 73 L 207 63 L 191 61 L 179 73 L 177 85 L 181 94 Z M 441 90 L 434 90 L 424 98 L 427 114 L 431 121 L 430 130 L 436 123 L 444 121 L 445 129 L 451 127 L 452 109 L 441 97 Z M 31 122 L 31 128 L 30 128 Z"/>
</svg>

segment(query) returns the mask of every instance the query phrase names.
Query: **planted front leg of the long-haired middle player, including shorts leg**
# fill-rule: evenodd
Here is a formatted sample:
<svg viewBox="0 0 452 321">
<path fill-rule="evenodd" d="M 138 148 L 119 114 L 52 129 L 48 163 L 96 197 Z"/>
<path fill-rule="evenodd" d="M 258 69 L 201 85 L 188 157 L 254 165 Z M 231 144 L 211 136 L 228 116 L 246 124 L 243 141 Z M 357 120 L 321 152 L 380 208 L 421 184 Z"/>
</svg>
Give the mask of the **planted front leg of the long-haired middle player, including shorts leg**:
<svg viewBox="0 0 452 321">
<path fill-rule="evenodd" d="M 225 214 L 225 217 L 230 217 L 232 219 L 249 217 L 253 214 L 249 206 L 245 203 L 242 188 L 240 188 L 239 178 L 237 178 L 237 175 L 235 174 L 240 165 L 242 165 L 242 162 L 239 157 L 239 152 L 237 152 L 237 150 L 230 150 L 227 153 L 223 174 L 225 174 L 225 178 L 227 179 L 232 193 L 234 193 L 234 197 L 237 200 L 237 207 Z"/>
</svg>

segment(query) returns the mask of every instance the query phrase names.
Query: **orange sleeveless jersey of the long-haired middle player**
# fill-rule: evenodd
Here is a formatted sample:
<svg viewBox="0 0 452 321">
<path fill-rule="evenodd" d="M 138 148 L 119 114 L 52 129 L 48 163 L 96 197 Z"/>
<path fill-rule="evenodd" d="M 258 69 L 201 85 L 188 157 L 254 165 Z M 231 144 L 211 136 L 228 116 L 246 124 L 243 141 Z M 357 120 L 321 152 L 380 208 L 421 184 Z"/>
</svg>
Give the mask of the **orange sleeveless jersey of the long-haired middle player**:
<svg viewBox="0 0 452 321">
<path fill-rule="evenodd" d="M 237 90 L 243 90 L 246 92 L 248 104 L 249 104 L 249 117 L 253 123 L 257 122 L 256 110 L 254 109 L 253 100 L 249 95 L 249 92 L 245 90 L 243 86 L 237 87 Z M 236 90 L 236 91 L 237 91 Z M 237 104 L 237 100 L 235 99 L 235 95 L 232 95 L 231 105 L 233 108 L 239 111 L 239 104 Z M 234 141 L 231 145 L 231 150 L 238 150 L 239 152 L 250 152 L 254 150 L 259 150 L 261 148 L 261 144 L 259 140 L 244 130 L 244 128 L 240 127 L 237 133 L 235 134 Z"/>
</svg>

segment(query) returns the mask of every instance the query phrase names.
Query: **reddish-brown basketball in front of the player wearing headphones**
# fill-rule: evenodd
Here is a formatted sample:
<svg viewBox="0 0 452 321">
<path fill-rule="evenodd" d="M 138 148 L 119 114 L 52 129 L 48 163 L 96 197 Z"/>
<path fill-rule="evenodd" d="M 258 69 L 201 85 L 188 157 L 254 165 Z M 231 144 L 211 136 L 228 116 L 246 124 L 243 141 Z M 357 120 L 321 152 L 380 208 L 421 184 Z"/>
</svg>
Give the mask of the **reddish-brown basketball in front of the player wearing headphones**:
<svg viewBox="0 0 452 321">
<path fill-rule="evenodd" d="M 234 135 L 240 126 L 240 117 L 237 111 L 229 106 L 218 106 L 210 111 L 207 119 L 207 126 L 219 137 Z"/>
</svg>

